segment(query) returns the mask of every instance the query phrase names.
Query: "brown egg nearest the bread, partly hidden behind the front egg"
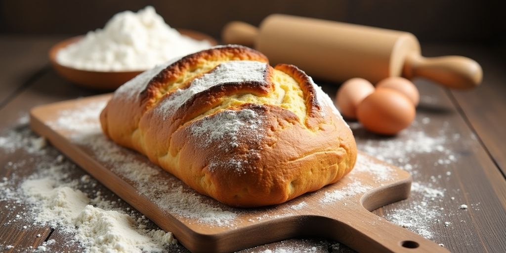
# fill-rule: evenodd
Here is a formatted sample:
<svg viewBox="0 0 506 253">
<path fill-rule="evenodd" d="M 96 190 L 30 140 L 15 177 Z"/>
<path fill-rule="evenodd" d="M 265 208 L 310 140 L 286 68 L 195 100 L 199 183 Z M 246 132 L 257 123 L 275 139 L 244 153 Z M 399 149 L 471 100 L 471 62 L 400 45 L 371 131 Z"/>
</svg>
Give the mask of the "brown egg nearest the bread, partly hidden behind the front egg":
<svg viewBox="0 0 506 253">
<path fill-rule="evenodd" d="M 356 118 L 357 106 L 374 92 L 374 86 L 362 78 L 351 78 L 343 83 L 335 95 L 335 104 L 347 118 Z"/>
</svg>

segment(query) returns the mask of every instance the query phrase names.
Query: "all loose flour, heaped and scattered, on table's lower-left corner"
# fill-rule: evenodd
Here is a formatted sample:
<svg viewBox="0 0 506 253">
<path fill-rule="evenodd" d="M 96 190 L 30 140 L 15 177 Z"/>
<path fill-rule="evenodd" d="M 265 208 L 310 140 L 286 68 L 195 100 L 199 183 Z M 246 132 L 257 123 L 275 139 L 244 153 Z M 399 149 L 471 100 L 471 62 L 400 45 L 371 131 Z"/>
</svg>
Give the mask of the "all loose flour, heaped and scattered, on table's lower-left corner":
<svg viewBox="0 0 506 253">
<path fill-rule="evenodd" d="M 63 158 L 55 159 L 61 155 L 53 148 L 34 144 L 38 148 L 35 150 L 30 143 L 37 143 L 34 140 L 38 137 L 29 130 L 10 132 L 8 136 L 12 137 L 9 141 L 28 144 L 14 151 L 31 154 L 36 167 L 29 168 L 33 170 L 31 176 L 20 177 L 16 167 L 23 166 L 22 162 L 6 165 L 11 174 L 0 181 L 0 201 L 11 204 L 5 206 L 8 213 L 3 215 L 10 220 L 3 225 L 20 223 L 23 230 L 50 226 L 70 238 L 59 242 L 52 239 L 37 248 L 20 250 L 51 252 L 51 246 L 58 243 L 59 247 L 77 244 L 83 252 L 166 252 L 177 243 L 172 233 L 147 229 L 149 221 L 144 216 L 126 212 L 128 209 L 118 207 L 116 201 L 104 200 L 100 192 L 93 191 L 95 196 L 90 197 L 81 191 L 94 189 L 97 182 L 88 175 L 70 180 L 77 167 Z M 1 148 L 10 151 L 12 147 Z"/>
</svg>

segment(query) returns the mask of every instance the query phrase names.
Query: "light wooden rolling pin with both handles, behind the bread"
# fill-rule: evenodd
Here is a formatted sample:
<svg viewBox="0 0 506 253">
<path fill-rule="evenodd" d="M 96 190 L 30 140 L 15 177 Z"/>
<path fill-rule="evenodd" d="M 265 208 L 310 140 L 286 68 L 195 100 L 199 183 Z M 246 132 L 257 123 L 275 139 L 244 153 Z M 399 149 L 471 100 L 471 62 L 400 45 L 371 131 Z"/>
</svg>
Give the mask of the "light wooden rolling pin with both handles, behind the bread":
<svg viewBox="0 0 506 253">
<path fill-rule="evenodd" d="M 362 77 L 421 76 L 453 89 L 481 82 L 480 65 L 462 56 L 426 58 L 409 32 L 273 14 L 260 27 L 234 21 L 222 32 L 226 44 L 255 47 L 271 64 L 289 63 L 308 74 L 341 82 Z"/>
</svg>

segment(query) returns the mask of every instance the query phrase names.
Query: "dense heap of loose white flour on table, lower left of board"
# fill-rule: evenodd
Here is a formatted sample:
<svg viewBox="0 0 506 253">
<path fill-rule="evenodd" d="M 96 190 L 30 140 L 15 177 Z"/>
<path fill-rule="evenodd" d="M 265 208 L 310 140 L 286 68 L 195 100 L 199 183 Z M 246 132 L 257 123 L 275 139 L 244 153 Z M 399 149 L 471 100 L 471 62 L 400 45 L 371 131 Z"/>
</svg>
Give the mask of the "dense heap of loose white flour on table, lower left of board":
<svg viewBox="0 0 506 253">
<path fill-rule="evenodd" d="M 37 213 L 34 223 L 74 234 L 85 252 L 161 252 L 177 242 L 170 232 L 145 229 L 128 214 L 96 207 L 109 203 L 98 203 L 76 189 L 77 182 L 58 178 L 64 170 L 61 165 L 46 170 L 45 176 L 35 175 L 21 184 Z"/>
</svg>

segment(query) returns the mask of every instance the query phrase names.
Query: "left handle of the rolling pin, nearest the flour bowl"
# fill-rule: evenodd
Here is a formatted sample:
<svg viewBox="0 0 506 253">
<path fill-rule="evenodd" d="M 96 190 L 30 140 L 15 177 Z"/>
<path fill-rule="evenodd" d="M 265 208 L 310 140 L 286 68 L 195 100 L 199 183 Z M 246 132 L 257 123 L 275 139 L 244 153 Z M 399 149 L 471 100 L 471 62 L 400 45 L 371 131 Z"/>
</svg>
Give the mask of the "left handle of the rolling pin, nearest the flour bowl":
<svg viewBox="0 0 506 253">
<path fill-rule="evenodd" d="M 255 26 L 240 21 L 232 21 L 223 28 L 222 40 L 225 44 L 239 44 L 253 48 L 258 33 L 259 30 Z"/>
</svg>

